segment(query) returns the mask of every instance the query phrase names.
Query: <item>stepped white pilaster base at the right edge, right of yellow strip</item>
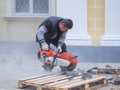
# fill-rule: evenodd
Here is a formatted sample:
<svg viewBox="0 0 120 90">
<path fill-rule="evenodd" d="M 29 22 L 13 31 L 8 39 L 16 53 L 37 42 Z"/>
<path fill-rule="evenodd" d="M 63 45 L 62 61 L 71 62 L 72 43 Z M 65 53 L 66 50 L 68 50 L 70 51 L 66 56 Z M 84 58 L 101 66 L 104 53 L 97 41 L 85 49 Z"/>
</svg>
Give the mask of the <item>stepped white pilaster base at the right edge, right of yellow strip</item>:
<svg viewBox="0 0 120 90">
<path fill-rule="evenodd" d="M 101 38 L 101 46 L 120 46 L 120 35 L 105 35 Z"/>
</svg>

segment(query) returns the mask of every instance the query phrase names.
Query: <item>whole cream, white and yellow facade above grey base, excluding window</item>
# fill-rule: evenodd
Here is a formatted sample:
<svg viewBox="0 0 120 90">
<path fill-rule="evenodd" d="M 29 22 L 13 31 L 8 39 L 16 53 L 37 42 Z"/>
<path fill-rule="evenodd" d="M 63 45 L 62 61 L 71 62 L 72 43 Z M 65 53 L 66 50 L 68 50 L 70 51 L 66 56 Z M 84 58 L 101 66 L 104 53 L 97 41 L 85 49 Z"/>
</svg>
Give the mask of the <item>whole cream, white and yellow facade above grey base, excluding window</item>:
<svg viewBox="0 0 120 90">
<path fill-rule="evenodd" d="M 10 12 L 7 9 L 8 1 L 10 0 L 1 0 L 0 3 L 0 41 L 34 41 L 36 29 L 45 18 L 8 18 L 6 17 Z M 119 2 L 119 0 L 56 0 L 55 15 L 71 18 L 74 21 L 73 29 L 67 34 L 66 43 L 68 45 L 120 45 L 114 44 L 114 42 L 120 43 L 118 24 L 120 19 L 119 13 L 115 12 L 120 7 Z M 90 9 L 94 4 L 97 9 Z M 97 20 L 92 21 L 91 18 Z"/>
</svg>

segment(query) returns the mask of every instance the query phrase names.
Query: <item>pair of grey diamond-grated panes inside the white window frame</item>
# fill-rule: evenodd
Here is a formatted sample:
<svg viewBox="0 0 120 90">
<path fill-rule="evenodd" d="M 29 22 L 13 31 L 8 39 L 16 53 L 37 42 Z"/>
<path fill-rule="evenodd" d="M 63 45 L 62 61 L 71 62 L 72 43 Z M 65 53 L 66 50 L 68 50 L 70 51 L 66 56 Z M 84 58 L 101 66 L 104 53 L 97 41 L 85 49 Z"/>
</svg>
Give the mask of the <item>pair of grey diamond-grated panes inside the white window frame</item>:
<svg viewBox="0 0 120 90">
<path fill-rule="evenodd" d="M 49 0 L 16 0 L 16 13 L 49 13 Z"/>
</svg>

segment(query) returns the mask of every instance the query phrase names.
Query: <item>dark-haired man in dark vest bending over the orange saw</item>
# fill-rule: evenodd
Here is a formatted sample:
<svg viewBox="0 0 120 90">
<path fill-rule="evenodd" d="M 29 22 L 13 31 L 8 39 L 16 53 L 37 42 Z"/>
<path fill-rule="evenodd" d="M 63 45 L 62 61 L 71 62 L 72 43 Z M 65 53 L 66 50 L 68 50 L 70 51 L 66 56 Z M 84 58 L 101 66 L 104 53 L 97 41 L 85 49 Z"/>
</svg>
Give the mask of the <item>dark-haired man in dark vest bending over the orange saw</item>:
<svg viewBox="0 0 120 90">
<path fill-rule="evenodd" d="M 72 27 L 73 21 L 71 19 L 58 16 L 48 17 L 37 29 L 36 42 L 39 42 L 40 48 L 43 50 L 48 50 L 50 44 L 53 44 L 61 53 L 66 52 L 66 33 Z"/>
</svg>

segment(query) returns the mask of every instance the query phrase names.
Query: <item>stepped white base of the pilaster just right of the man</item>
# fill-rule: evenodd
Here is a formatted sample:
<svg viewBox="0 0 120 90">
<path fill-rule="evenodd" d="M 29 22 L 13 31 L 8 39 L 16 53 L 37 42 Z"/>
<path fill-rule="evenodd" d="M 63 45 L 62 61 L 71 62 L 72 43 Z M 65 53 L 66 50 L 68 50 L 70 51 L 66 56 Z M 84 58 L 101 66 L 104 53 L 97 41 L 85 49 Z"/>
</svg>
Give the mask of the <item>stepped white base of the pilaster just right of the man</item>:
<svg viewBox="0 0 120 90">
<path fill-rule="evenodd" d="M 66 44 L 67 45 L 75 45 L 75 46 L 79 46 L 79 45 L 92 45 L 92 39 L 90 36 L 69 36 L 66 39 Z"/>
</svg>

